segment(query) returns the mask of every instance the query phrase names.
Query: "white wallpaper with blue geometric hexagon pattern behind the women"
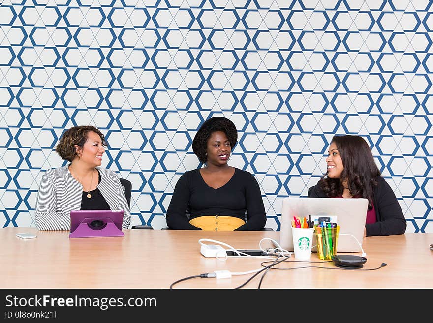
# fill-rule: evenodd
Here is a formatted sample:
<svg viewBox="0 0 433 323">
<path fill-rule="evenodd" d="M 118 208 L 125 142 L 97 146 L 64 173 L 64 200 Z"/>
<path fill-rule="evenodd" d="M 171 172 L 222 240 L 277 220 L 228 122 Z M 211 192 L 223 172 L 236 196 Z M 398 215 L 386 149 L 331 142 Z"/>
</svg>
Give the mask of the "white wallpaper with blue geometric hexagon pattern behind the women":
<svg viewBox="0 0 433 323">
<path fill-rule="evenodd" d="M 407 232 L 433 232 L 432 2 L 0 0 L 0 225 L 35 226 L 59 137 L 93 124 L 102 166 L 133 184 L 131 225 L 164 227 L 200 166 L 192 138 L 223 115 L 268 227 L 326 171 L 332 136 L 359 134 Z"/>
</svg>

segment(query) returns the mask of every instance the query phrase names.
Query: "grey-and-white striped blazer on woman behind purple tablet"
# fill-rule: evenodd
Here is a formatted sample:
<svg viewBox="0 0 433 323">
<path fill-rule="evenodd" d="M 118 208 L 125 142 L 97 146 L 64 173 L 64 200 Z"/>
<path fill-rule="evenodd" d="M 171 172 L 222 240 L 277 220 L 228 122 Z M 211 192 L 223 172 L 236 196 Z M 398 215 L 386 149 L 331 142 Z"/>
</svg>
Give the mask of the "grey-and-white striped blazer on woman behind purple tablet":
<svg viewBox="0 0 433 323">
<path fill-rule="evenodd" d="M 97 186 L 111 210 L 124 210 L 122 229 L 127 229 L 131 214 L 124 189 L 113 170 L 97 168 L 101 182 Z M 68 166 L 49 169 L 37 191 L 34 217 L 39 230 L 70 230 L 70 211 L 81 208 L 83 186 L 71 175 Z"/>
</svg>

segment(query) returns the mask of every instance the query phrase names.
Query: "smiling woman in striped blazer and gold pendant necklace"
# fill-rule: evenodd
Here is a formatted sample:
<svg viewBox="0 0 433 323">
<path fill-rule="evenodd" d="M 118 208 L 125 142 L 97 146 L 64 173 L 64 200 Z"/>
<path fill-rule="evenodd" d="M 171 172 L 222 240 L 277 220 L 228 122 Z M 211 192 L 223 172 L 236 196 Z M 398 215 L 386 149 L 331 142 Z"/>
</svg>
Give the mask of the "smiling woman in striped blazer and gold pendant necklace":
<svg viewBox="0 0 433 323">
<path fill-rule="evenodd" d="M 56 152 L 70 163 L 42 176 L 34 212 L 39 230 L 69 230 L 72 210 L 124 210 L 122 228 L 128 228 L 131 216 L 119 177 L 98 167 L 104 146 L 104 135 L 94 126 L 63 133 Z"/>
</svg>

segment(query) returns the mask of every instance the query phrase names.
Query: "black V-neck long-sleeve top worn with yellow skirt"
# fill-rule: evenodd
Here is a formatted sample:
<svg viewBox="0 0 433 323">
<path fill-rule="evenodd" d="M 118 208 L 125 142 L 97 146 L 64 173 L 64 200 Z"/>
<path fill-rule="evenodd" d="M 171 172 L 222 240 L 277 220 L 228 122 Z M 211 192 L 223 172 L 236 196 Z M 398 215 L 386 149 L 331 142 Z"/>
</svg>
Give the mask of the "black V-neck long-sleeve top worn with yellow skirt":
<svg viewBox="0 0 433 323">
<path fill-rule="evenodd" d="M 183 174 L 176 183 L 167 210 L 167 225 L 171 229 L 201 230 L 188 221 L 203 215 L 234 216 L 245 220 L 246 211 L 246 223 L 236 230 L 259 230 L 265 226 L 266 213 L 260 187 L 249 172 L 235 168 L 230 180 L 215 189 L 206 184 L 200 169 L 196 169 Z"/>
</svg>

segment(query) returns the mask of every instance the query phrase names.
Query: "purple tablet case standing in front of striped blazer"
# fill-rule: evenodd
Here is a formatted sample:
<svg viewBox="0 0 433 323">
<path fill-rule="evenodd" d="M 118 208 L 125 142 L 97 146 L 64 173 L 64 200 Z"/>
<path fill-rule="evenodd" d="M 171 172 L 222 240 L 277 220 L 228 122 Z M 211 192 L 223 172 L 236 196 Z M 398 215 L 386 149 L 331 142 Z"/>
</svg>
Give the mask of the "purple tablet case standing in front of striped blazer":
<svg viewBox="0 0 433 323">
<path fill-rule="evenodd" d="M 125 236 L 122 232 L 124 210 L 71 211 L 69 238 Z"/>
</svg>

